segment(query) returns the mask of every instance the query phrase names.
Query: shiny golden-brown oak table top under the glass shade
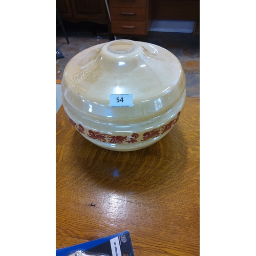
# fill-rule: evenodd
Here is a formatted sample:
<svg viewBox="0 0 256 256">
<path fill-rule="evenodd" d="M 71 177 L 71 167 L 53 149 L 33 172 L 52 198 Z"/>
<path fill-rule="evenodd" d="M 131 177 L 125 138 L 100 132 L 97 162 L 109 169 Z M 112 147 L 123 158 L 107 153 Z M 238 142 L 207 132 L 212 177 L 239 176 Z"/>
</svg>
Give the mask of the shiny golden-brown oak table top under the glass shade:
<svg viewBox="0 0 256 256">
<path fill-rule="evenodd" d="M 56 249 L 125 230 L 136 256 L 199 255 L 199 98 L 134 152 L 98 147 L 56 114 Z"/>
</svg>

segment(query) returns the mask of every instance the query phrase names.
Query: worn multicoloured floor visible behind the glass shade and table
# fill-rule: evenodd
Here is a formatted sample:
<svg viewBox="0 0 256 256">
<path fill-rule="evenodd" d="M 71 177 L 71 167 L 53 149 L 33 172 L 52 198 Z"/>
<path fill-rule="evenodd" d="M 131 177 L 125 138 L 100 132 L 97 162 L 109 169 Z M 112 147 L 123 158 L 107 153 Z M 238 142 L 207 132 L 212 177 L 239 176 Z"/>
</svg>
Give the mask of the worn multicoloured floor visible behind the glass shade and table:
<svg viewBox="0 0 256 256">
<path fill-rule="evenodd" d="M 107 35 L 94 35 L 90 31 L 66 31 L 70 44 L 61 31 L 56 33 L 56 46 L 60 48 L 64 58 L 56 60 L 56 79 L 62 79 L 68 61 L 80 51 L 91 46 L 108 42 Z M 122 37 L 117 37 L 122 39 Z M 181 62 L 186 76 L 186 92 L 188 97 L 200 96 L 200 47 L 199 36 L 190 33 L 149 32 L 144 38 L 133 38 L 161 46 L 172 52 Z M 56 86 L 56 104 L 60 90 Z M 59 101 L 58 101 L 59 104 Z M 56 111 L 58 107 L 56 105 Z"/>
</svg>

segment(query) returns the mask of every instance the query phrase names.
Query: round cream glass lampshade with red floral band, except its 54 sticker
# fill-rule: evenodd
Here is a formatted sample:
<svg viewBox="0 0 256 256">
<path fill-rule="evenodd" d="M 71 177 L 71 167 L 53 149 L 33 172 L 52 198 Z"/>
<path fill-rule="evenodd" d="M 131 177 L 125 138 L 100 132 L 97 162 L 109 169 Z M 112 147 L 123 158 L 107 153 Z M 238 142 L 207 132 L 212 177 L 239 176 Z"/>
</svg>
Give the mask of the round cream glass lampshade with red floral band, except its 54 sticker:
<svg viewBox="0 0 256 256">
<path fill-rule="evenodd" d="M 66 66 L 62 103 L 85 138 L 110 150 L 133 151 L 164 137 L 181 117 L 185 75 L 177 57 L 146 42 L 116 40 L 86 49 Z M 132 95 L 111 107 L 110 95 Z"/>
</svg>

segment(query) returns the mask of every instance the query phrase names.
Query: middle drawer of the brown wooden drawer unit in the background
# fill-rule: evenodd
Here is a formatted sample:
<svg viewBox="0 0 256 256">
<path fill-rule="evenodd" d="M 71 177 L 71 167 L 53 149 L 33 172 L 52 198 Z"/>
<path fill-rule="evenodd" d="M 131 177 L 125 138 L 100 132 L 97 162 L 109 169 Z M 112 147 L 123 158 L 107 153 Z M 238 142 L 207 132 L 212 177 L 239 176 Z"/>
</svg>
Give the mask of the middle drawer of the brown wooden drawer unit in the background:
<svg viewBox="0 0 256 256">
<path fill-rule="evenodd" d="M 145 22 L 146 8 L 111 8 L 112 21 Z"/>
</svg>

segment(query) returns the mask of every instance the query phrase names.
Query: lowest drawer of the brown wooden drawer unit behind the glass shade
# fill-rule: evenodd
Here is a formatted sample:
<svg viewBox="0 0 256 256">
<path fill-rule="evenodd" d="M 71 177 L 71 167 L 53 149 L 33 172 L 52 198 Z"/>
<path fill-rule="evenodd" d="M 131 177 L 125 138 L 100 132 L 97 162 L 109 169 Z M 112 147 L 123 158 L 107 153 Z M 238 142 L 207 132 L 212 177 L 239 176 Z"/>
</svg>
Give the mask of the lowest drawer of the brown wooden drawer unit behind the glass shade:
<svg viewBox="0 0 256 256">
<path fill-rule="evenodd" d="M 146 35 L 145 22 L 111 22 L 113 34 Z"/>
</svg>

